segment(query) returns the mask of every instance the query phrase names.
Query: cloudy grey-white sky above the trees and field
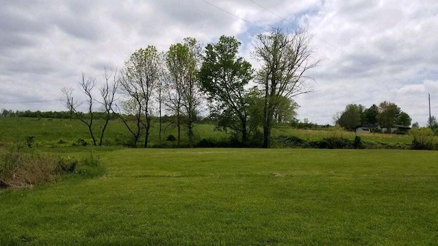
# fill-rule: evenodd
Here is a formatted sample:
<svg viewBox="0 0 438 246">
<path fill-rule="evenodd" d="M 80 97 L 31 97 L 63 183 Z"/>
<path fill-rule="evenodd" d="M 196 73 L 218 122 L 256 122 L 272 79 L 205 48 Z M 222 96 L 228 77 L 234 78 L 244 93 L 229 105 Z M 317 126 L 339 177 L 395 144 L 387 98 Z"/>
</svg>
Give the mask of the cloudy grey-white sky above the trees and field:
<svg viewBox="0 0 438 246">
<path fill-rule="evenodd" d="M 203 46 L 235 36 L 240 55 L 272 27 L 306 28 L 315 92 L 294 98 L 299 120 L 333 124 L 350 103 L 394 102 L 425 126 L 428 94 L 438 117 L 436 0 L 0 0 L 0 109 L 66 111 L 62 88 L 81 98 L 81 73 L 103 83 L 148 45 L 167 51 L 193 37 Z"/>
</svg>

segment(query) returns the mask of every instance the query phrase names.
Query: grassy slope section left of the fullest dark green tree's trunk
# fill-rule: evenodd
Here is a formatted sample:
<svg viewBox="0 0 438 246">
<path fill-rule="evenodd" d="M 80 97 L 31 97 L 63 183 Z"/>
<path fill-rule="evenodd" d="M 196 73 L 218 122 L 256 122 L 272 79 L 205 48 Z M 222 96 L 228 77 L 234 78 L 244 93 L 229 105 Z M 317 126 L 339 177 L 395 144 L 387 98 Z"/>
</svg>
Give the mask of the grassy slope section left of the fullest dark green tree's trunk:
<svg viewBox="0 0 438 246">
<path fill-rule="evenodd" d="M 99 141 L 99 129 L 103 125 L 102 120 L 96 120 L 94 125 L 94 134 Z M 150 146 L 156 146 L 159 142 L 158 123 L 153 122 L 151 127 Z M 165 141 L 168 135 L 177 136 L 175 127 L 170 124 L 164 124 L 162 139 Z M 88 128 L 79 120 L 62 120 L 62 119 L 45 119 L 45 118 L 2 118 L 0 117 L 0 141 L 16 141 L 16 139 L 25 139 L 27 136 L 34 136 L 36 145 L 40 147 L 62 147 L 71 146 L 71 143 L 77 139 L 85 139 L 88 143 L 92 143 Z M 194 129 L 194 140 L 199 141 L 203 138 L 220 139 L 227 135 L 223 132 L 214 131 L 214 126 L 207 124 L 196 125 Z M 66 143 L 58 143 L 60 140 Z M 105 141 L 109 141 L 110 145 L 115 142 L 126 143 L 131 139 L 131 135 L 123 122 L 120 120 L 112 120 L 105 132 Z M 104 141 L 104 143 L 105 143 Z M 139 146 L 142 146 L 144 137 L 140 138 Z M 184 144 L 187 141 L 186 132 L 181 130 L 181 142 Z M 176 142 L 168 142 L 170 145 L 176 145 Z"/>
</svg>

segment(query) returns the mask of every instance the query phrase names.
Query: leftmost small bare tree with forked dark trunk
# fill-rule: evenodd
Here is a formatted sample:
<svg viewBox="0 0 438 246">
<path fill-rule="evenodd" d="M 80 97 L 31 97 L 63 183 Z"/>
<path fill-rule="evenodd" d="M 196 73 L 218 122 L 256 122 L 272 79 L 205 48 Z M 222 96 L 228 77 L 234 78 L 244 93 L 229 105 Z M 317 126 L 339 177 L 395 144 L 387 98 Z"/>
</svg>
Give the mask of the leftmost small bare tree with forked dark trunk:
<svg viewBox="0 0 438 246">
<path fill-rule="evenodd" d="M 78 102 L 74 102 L 72 100 L 72 88 L 63 88 L 62 94 L 64 95 L 63 103 L 64 105 L 75 114 L 76 118 L 79 119 L 83 124 L 86 124 L 88 127 L 88 132 L 90 133 L 90 137 L 92 138 L 93 145 L 96 146 L 96 137 L 94 137 L 93 133 L 93 120 L 94 120 L 94 98 L 92 95 L 92 90 L 96 86 L 96 79 L 94 77 L 86 78 L 86 75 L 82 73 L 82 79 L 79 81 L 79 90 L 83 92 L 86 96 L 86 105 L 87 105 L 87 113 L 88 119 L 86 115 L 78 111 L 77 107 L 79 106 Z"/>
</svg>

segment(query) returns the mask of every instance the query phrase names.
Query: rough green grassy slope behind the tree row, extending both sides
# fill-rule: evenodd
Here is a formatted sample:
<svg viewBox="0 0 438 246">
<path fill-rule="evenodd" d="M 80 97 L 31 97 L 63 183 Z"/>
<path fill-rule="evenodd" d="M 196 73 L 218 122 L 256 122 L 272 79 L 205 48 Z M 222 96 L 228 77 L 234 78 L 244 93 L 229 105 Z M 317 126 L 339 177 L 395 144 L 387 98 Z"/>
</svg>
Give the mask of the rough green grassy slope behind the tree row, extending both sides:
<svg viewBox="0 0 438 246">
<path fill-rule="evenodd" d="M 95 129 L 101 127 L 102 121 L 96 121 Z M 96 131 L 96 137 L 98 131 Z M 175 127 L 170 124 L 164 124 L 162 133 L 163 141 L 168 135 L 177 135 Z M 194 128 L 194 141 L 200 141 L 201 139 L 223 139 L 227 137 L 227 134 L 220 131 L 214 131 L 213 125 L 198 124 Z M 279 135 L 294 135 L 305 140 L 320 140 L 323 137 L 333 137 L 339 135 L 333 131 L 315 131 L 315 130 L 298 130 L 290 127 L 281 126 L 273 129 L 273 136 Z M 355 133 L 341 133 L 343 137 L 349 139 L 355 138 Z M 388 134 L 359 134 L 363 141 L 370 141 L 376 143 L 411 143 L 412 136 L 409 135 L 388 135 Z M 60 119 L 37 119 L 37 118 L 1 118 L 0 117 L 0 141 L 16 141 L 16 139 L 25 139 L 27 136 L 34 136 L 36 145 L 40 147 L 51 146 L 71 146 L 71 143 L 77 139 L 86 139 L 88 143 L 91 143 L 91 138 L 88 133 L 88 128 L 85 124 L 79 122 L 79 120 L 60 120 Z M 60 139 L 66 141 L 66 143 L 58 143 Z M 111 121 L 107 132 L 105 133 L 104 143 L 114 145 L 115 143 L 127 143 L 131 139 L 129 132 L 125 128 L 120 120 Z M 151 127 L 151 141 L 150 146 L 158 145 L 158 124 L 154 122 Z M 438 141 L 438 137 L 435 137 Z M 142 138 L 138 145 L 142 146 Z M 165 141 L 164 141 L 165 142 Z M 181 131 L 181 142 L 184 145 L 187 143 L 187 137 L 185 130 Z M 175 146 L 176 142 L 167 142 L 168 146 Z"/>
</svg>

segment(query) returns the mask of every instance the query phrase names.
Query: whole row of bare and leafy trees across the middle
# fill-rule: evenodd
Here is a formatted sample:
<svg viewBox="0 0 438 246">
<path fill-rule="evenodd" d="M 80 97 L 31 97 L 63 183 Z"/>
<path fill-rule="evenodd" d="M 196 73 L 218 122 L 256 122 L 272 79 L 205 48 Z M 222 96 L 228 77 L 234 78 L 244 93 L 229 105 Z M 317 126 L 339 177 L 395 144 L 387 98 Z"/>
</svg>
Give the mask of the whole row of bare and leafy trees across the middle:
<svg viewBox="0 0 438 246">
<path fill-rule="evenodd" d="M 302 29 L 294 33 L 272 29 L 257 35 L 252 55 L 261 64 L 258 70 L 240 57 L 241 43 L 230 36 L 205 47 L 194 38 L 172 44 L 167 51 L 149 45 L 135 51 L 120 70 L 105 69 L 105 83 L 99 88 L 94 77 L 82 74 L 79 88 L 86 100 L 74 101 L 73 89 L 64 88 L 63 102 L 86 124 L 94 145 L 101 145 L 114 114 L 131 134 L 131 145 L 138 146 L 141 136 L 144 148 L 151 121 L 157 118 L 161 145 L 162 115 L 168 114 L 174 116 L 177 146 L 185 134 L 188 146 L 193 147 L 194 123 L 201 111 L 207 111 L 216 128 L 229 131 L 241 146 L 257 141 L 269 148 L 272 127 L 290 123 L 296 115 L 294 96 L 312 92 L 307 70 L 318 60 L 312 59 L 309 42 Z M 86 107 L 88 118 L 80 113 L 79 105 Z M 99 118 L 105 124 L 95 136 L 96 107 L 103 111 Z"/>
</svg>

